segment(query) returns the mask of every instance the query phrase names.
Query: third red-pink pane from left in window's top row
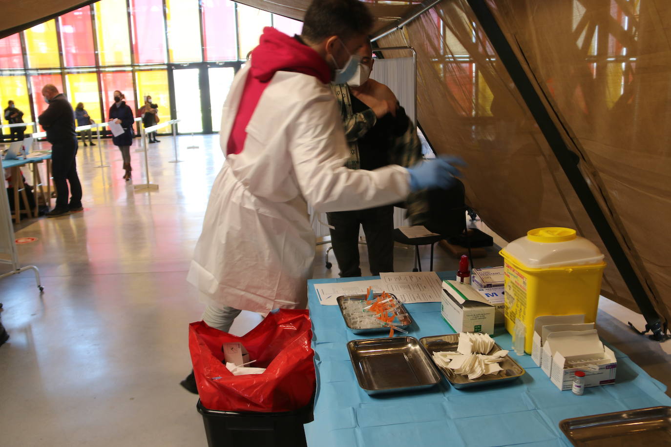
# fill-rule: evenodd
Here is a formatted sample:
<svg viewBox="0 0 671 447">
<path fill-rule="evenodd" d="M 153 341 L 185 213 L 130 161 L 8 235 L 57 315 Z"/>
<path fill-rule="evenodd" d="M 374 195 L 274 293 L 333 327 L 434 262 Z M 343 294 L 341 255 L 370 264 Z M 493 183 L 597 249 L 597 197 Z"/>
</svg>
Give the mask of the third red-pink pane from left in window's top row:
<svg viewBox="0 0 671 447">
<path fill-rule="evenodd" d="M 163 0 L 132 0 L 131 18 L 135 62 L 138 64 L 165 63 L 166 28 L 163 19 Z"/>
</svg>

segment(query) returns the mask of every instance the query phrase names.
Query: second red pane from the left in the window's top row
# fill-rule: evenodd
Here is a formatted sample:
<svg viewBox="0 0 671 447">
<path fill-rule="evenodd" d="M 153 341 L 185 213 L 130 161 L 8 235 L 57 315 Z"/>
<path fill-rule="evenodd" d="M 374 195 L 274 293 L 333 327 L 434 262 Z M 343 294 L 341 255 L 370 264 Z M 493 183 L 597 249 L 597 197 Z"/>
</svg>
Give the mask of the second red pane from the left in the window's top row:
<svg viewBox="0 0 671 447">
<path fill-rule="evenodd" d="M 75 9 L 61 15 L 59 19 L 65 65 L 68 67 L 95 65 L 91 7 Z"/>
</svg>

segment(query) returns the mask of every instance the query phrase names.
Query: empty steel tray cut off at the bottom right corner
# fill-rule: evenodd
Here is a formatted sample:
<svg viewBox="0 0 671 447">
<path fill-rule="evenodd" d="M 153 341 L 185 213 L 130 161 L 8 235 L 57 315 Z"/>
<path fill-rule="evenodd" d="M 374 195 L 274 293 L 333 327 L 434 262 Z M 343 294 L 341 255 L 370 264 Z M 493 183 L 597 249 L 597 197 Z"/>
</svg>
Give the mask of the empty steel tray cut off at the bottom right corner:
<svg viewBox="0 0 671 447">
<path fill-rule="evenodd" d="M 565 419 L 559 428 L 574 446 L 671 446 L 671 407 Z"/>
</svg>

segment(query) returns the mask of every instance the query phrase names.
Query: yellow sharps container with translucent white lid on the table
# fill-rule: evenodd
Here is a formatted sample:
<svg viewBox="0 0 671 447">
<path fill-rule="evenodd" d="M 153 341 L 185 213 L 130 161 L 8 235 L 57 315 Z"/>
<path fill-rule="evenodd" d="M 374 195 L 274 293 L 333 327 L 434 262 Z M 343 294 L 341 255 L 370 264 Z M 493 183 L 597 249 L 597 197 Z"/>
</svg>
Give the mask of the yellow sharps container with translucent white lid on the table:
<svg viewBox="0 0 671 447">
<path fill-rule="evenodd" d="M 538 316 L 584 314 L 597 320 L 601 277 L 606 263 L 596 245 L 569 228 L 529 231 L 501 250 L 505 260 L 505 327 L 525 325 L 524 350 L 531 354 Z"/>
</svg>

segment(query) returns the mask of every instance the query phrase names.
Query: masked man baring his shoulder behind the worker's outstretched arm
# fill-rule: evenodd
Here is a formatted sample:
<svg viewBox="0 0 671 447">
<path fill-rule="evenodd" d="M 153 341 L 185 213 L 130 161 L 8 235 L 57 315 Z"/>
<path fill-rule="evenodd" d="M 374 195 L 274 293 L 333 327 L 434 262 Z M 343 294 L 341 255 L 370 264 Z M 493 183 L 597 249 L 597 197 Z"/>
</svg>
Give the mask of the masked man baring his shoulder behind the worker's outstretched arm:
<svg viewBox="0 0 671 447">
<path fill-rule="evenodd" d="M 360 62 L 354 76 L 344 84 L 331 84 L 350 146 L 346 166 L 374 170 L 390 164 L 417 164 L 422 154 L 414 123 L 389 87 L 369 77 L 374 63 L 370 42 L 362 46 L 358 56 Z M 341 277 L 361 276 L 360 226 L 366 235 L 370 274 L 394 271 L 393 204 L 328 212 L 326 216 Z"/>
</svg>

